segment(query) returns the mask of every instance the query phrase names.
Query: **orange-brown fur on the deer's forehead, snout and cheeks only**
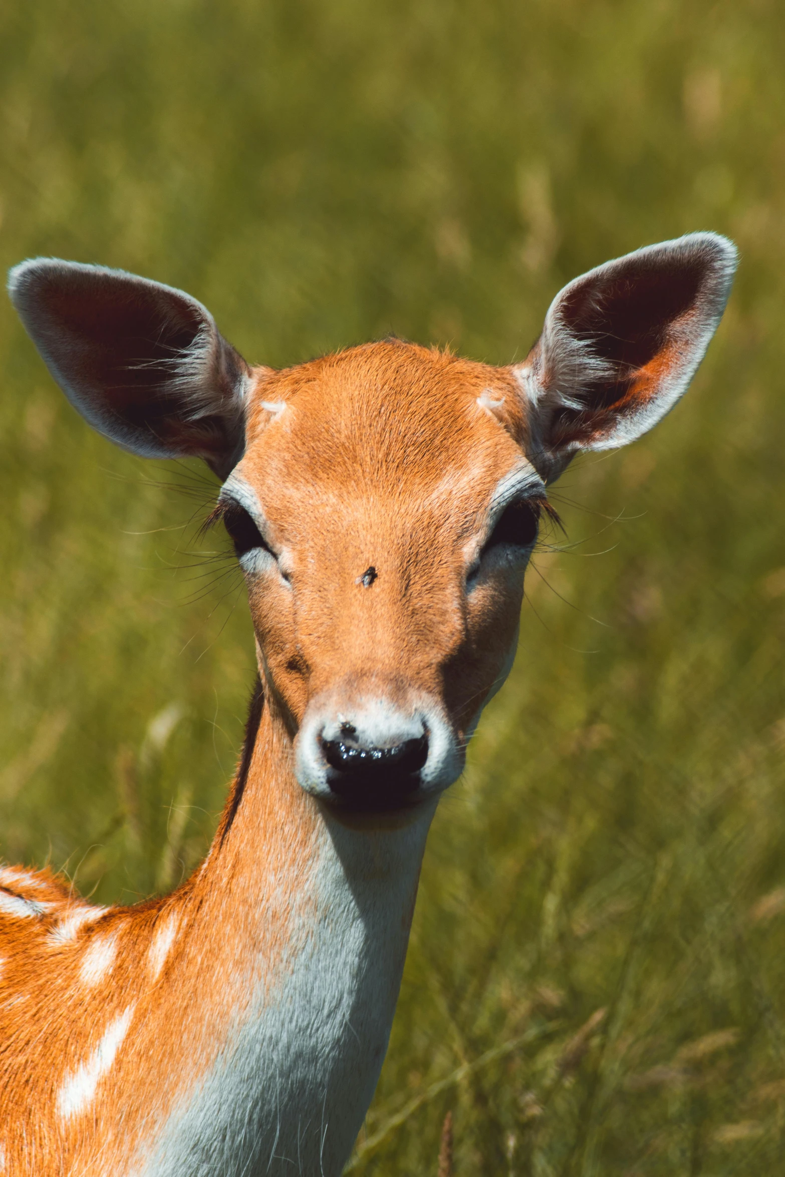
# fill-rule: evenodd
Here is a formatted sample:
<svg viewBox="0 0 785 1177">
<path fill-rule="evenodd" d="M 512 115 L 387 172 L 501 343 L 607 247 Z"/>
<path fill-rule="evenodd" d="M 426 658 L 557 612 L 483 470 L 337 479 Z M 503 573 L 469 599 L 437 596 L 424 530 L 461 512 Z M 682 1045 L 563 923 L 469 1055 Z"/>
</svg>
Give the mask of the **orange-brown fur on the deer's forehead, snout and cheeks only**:
<svg viewBox="0 0 785 1177">
<path fill-rule="evenodd" d="M 477 403 L 490 390 L 500 415 Z M 260 407 L 285 401 L 271 421 Z M 405 411 L 401 406 L 405 405 Z M 508 370 L 400 343 L 261 373 L 238 471 L 271 538 L 294 552 L 293 598 L 251 609 L 271 685 L 294 731 L 307 699 L 352 676 L 441 697 L 465 730 L 510 649 L 519 592 L 463 601 L 463 547 L 525 435 Z M 315 488 L 318 487 L 318 493 Z M 373 591 L 355 584 L 373 565 Z"/>
</svg>

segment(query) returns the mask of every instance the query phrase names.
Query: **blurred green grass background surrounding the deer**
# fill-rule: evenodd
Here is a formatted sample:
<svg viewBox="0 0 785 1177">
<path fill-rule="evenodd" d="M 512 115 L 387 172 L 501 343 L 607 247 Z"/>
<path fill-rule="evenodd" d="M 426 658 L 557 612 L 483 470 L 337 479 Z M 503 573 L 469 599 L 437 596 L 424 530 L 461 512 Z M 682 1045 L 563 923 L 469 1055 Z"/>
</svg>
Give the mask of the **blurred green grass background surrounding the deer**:
<svg viewBox="0 0 785 1177">
<path fill-rule="evenodd" d="M 573 275 L 741 268 L 687 399 L 571 468 L 423 875 L 352 1161 L 785 1172 L 785 12 L 773 0 L 0 8 L 0 261 L 191 291 L 252 361 L 523 358 Z M 0 853 L 100 900 L 204 852 L 253 679 L 214 487 L 92 434 L 0 306 Z M 191 565 L 194 565 L 191 567 Z"/>
</svg>

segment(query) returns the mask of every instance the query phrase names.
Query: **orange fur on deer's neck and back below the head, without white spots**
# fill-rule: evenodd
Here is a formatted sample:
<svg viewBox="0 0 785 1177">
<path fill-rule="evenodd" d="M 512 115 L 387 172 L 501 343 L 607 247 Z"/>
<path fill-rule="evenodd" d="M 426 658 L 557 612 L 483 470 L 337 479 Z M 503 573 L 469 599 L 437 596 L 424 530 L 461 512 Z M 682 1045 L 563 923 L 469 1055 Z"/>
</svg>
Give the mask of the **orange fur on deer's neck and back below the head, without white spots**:
<svg viewBox="0 0 785 1177">
<path fill-rule="evenodd" d="M 274 722 L 262 718 L 242 820 L 233 824 L 220 853 L 213 849 L 205 867 L 171 896 L 109 909 L 72 942 L 56 944 L 52 933 L 81 902 L 48 871 L 33 876 L 41 887 L 13 887 L 16 895 L 46 898 L 55 906 L 38 920 L 0 918 L 0 1139 L 6 1172 L 119 1172 L 154 1128 L 151 1109 L 164 1118 L 184 1086 L 214 1062 L 228 1023 L 241 1015 L 246 960 L 254 947 L 274 973 L 290 935 L 290 912 L 279 911 L 278 923 L 265 929 L 265 943 L 254 945 L 248 910 L 264 897 L 265 871 L 274 866 L 284 877 L 297 873 L 315 825 L 310 799 L 287 771 L 287 756 Z M 301 904 L 301 898 L 295 895 L 292 902 Z M 180 933 L 153 979 L 152 938 L 157 925 L 173 915 L 180 918 Z M 80 963 L 97 937 L 109 935 L 118 937 L 113 969 L 106 983 L 88 988 L 80 980 Z M 131 1002 L 138 1003 L 134 1033 L 100 1080 L 100 1098 L 86 1115 L 64 1122 L 56 1092 L 65 1076 L 84 1063 L 105 1026 Z M 161 1075 L 168 1078 L 164 1086 Z"/>
</svg>

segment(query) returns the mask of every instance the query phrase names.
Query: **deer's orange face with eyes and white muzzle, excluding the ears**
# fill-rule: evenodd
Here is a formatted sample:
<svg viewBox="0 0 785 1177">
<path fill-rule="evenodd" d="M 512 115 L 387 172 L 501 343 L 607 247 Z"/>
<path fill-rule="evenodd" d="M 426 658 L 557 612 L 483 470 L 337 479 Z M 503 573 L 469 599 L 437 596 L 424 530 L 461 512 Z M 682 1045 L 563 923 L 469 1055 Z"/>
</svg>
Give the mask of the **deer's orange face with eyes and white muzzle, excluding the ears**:
<svg viewBox="0 0 785 1177">
<path fill-rule="evenodd" d="M 545 497 L 518 400 L 508 372 L 399 343 L 254 381 L 219 511 L 310 792 L 390 806 L 460 773 Z"/>
</svg>

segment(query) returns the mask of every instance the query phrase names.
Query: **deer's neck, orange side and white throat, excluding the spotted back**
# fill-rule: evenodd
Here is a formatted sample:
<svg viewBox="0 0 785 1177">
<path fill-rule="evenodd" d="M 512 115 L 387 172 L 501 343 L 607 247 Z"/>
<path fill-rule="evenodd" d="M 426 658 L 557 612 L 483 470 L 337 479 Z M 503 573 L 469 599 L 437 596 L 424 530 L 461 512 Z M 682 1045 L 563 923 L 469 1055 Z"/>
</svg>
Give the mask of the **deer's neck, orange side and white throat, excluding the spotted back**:
<svg viewBox="0 0 785 1177">
<path fill-rule="evenodd" d="M 192 999 L 220 995 L 202 1035 L 220 1050 L 194 1044 L 209 1062 L 141 1170 L 157 1177 L 340 1173 L 387 1049 L 433 809 L 348 827 L 298 785 L 273 710 L 251 739 L 186 899 Z"/>
</svg>

